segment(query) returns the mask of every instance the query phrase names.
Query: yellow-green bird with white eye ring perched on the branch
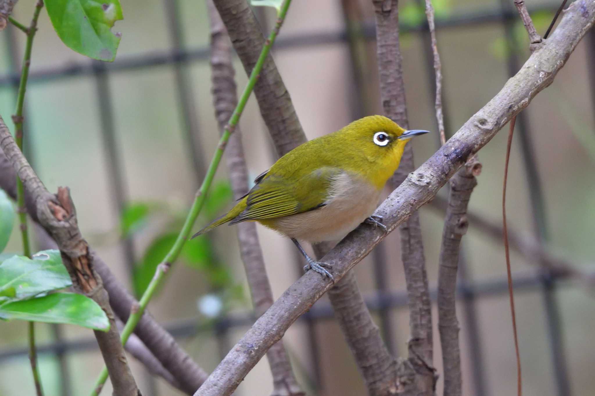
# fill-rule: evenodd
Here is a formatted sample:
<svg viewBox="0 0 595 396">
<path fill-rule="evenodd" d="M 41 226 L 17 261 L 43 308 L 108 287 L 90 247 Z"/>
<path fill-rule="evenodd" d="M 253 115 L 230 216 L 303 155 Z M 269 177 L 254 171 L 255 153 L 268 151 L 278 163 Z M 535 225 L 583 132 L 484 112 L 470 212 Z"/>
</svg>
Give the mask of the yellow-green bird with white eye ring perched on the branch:
<svg viewBox="0 0 595 396">
<path fill-rule="evenodd" d="M 353 121 L 337 132 L 294 148 L 261 173 L 237 204 L 193 237 L 221 224 L 258 221 L 290 237 L 312 269 L 333 277 L 327 263 L 310 258 L 297 240 L 343 239 L 361 223 L 386 229 L 372 216 L 384 184 L 399 167 L 403 149 L 415 135 L 384 116 Z"/>
</svg>

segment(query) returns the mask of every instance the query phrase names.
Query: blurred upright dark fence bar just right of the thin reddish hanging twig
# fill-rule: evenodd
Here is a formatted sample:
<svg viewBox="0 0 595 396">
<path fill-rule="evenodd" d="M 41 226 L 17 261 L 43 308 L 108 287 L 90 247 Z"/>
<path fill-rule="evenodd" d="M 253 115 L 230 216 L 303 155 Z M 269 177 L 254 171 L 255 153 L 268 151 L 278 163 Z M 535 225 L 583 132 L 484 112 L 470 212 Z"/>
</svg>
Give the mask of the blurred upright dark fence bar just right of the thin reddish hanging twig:
<svg viewBox="0 0 595 396">
<path fill-rule="evenodd" d="M 505 28 L 506 42 L 508 43 L 508 72 L 512 77 L 519 68 L 517 56 L 518 42 L 513 34 L 515 22 L 520 20 L 513 12 L 512 2 L 500 0 L 502 4 L 502 15 L 504 18 L 503 27 Z M 547 217 L 545 209 L 545 199 L 541 179 L 537 170 L 533 142 L 531 141 L 531 132 L 527 118 L 527 112 L 521 112 L 516 116 L 516 125 L 518 125 L 518 139 L 521 141 L 521 153 L 525 168 L 525 175 L 529 187 L 531 200 L 531 215 L 534 222 L 534 234 L 541 243 L 547 243 L 549 232 L 547 230 Z M 555 373 L 555 384 L 559 396 L 571 396 L 570 381 L 568 378 L 568 368 L 566 366 L 565 349 L 563 345 L 562 331 L 560 329 L 560 312 L 558 302 L 555 298 L 555 284 L 551 283 L 549 271 L 543 268 L 543 274 L 540 277 L 542 286 L 542 297 L 544 309 L 546 312 L 546 325 L 550 342 L 550 354 L 552 366 Z"/>
</svg>

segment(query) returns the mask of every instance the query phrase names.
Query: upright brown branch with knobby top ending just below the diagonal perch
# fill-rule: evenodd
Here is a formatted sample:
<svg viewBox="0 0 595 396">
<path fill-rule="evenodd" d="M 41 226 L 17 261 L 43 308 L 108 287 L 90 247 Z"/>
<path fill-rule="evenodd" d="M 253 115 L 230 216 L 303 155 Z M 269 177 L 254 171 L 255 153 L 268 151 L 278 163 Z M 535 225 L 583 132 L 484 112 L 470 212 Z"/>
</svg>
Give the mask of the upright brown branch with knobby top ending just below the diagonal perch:
<svg viewBox="0 0 595 396">
<path fill-rule="evenodd" d="M 444 396 L 461 396 L 461 353 L 459 350 L 459 322 L 456 318 L 456 273 L 459 265 L 461 239 L 467 232 L 467 205 L 481 172 L 477 156 L 473 156 L 450 179 L 450 197 L 438 274 L 438 328 L 444 367 Z"/>
</svg>

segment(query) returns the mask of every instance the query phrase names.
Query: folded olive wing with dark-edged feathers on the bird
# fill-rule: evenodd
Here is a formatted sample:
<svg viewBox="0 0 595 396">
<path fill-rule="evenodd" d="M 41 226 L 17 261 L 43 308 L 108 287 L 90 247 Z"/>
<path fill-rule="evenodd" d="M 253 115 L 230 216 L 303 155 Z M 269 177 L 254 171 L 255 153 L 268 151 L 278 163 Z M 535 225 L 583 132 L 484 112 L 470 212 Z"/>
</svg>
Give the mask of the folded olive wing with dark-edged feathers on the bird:
<svg viewBox="0 0 595 396">
<path fill-rule="evenodd" d="M 299 178 L 267 174 L 248 193 L 246 209 L 231 224 L 303 213 L 325 205 L 340 169 L 323 167 Z"/>
</svg>

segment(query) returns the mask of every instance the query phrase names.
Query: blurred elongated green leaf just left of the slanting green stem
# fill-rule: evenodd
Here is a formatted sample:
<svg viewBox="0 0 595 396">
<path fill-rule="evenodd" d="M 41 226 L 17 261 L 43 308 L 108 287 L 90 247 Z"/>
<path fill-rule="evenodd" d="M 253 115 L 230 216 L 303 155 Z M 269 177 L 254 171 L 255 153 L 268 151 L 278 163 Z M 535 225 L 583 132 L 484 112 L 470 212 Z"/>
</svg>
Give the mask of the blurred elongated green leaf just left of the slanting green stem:
<svg viewBox="0 0 595 396">
<path fill-rule="evenodd" d="M 156 237 L 146 249 L 143 258 L 134 266 L 133 287 L 137 297 L 142 296 L 151 282 L 157 265 L 165 258 L 171 246 L 176 242 L 175 233 L 167 233 Z"/>
</svg>

